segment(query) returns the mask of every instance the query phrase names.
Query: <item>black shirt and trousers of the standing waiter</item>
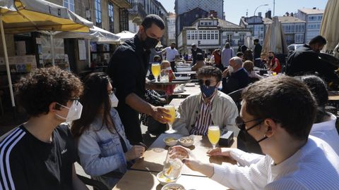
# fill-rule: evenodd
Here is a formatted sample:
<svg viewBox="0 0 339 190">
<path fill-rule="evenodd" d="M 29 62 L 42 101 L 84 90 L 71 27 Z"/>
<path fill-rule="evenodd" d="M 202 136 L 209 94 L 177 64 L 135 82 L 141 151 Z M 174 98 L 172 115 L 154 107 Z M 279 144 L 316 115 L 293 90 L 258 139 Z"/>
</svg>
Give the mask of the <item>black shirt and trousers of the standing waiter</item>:
<svg viewBox="0 0 339 190">
<path fill-rule="evenodd" d="M 119 99 L 117 110 L 131 144 L 136 144 L 143 139 L 138 112 L 127 105 L 125 99 L 131 93 L 145 99 L 145 77 L 149 56 L 150 51 L 143 49 L 136 35 L 114 51 L 107 70 L 109 77 L 113 80 L 113 87 L 117 89 L 116 95 Z"/>
</svg>

